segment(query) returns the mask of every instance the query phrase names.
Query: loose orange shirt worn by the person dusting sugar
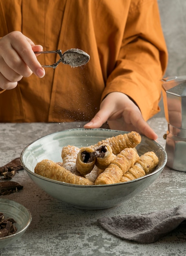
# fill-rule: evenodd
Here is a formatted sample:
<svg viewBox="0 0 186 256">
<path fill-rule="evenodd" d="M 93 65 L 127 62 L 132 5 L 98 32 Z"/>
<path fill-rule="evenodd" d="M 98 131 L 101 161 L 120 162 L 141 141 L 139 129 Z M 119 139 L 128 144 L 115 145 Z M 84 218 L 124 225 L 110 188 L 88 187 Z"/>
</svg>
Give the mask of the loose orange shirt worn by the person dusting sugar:
<svg viewBox="0 0 186 256">
<path fill-rule="evenodd" d="M 110 92 L 123 92 L 145 120 L 159 111 L 167 49 L 156 0 L 0 0 L 0 37 L 21 31 L 44 50 L 79 48 L 90 61 L 46 68 L 0 93 L 0 122 L 89 121 Z M 43 65 L 59 56 L 41 54 Z"/>
</svg>

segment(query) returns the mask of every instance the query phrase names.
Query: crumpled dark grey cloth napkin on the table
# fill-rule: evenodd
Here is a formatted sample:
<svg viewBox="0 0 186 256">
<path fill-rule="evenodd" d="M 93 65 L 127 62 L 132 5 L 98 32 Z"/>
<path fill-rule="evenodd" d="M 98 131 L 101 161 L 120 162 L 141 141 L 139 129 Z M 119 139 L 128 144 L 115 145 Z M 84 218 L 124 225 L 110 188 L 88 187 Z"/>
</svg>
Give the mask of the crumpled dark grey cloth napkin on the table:
<svg viewBox="0 0 186 256">
<path fill-rule="evenodd" d="M 186 204 L 151 213 L 103 217 L 98 223 L 111 234 L 140 243 L 153 243 L 186 220 Z"/>
</svg>

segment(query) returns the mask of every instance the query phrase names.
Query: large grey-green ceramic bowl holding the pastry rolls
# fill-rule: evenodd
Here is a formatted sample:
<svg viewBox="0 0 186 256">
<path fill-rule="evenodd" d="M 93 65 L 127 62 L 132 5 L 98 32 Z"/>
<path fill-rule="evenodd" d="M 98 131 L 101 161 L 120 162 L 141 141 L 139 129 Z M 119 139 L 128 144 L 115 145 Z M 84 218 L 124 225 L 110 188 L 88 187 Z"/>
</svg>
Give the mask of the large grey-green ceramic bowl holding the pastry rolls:
<svg viewBox="0 0 186 256">
<path fill-rule="evenodd" d="M 159 158 L 159 164 L 152 173 L 130 182 L 83 186 L 58 182 L 44 178 L 34 173 L 34 168 L 43 159 L 62 162 L 63 146 L 89 146 L 102 139 L 113 137 L 126 132 L 107 129 L 72 129 L 46 135 L 29 144 L 21 153 L 20 160 L 33 182 L 46 193 L 81 209 L 106 209 L 132 198 L 153 183 L 162 172 L 167 155 L 157 142 L 142 136 L 137 146 L 139 155 L 154 151 Z"/>
</svg>

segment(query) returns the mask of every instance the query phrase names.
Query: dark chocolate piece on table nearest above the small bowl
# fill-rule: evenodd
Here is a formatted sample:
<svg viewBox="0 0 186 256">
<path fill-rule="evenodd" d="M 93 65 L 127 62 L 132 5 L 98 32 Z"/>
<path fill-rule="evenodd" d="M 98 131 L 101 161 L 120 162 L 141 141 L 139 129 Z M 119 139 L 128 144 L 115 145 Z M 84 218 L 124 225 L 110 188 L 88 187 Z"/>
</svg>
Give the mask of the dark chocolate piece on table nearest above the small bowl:
<svg viewBox="0 0 186 256">
<path fill-rule="evenodd" d="M 22 188 L 23 186 L 18 182 L 2 181 L 0 182 L 0 195 L 9 195 L 10 193 L 18 192 Z"/>
</svg>

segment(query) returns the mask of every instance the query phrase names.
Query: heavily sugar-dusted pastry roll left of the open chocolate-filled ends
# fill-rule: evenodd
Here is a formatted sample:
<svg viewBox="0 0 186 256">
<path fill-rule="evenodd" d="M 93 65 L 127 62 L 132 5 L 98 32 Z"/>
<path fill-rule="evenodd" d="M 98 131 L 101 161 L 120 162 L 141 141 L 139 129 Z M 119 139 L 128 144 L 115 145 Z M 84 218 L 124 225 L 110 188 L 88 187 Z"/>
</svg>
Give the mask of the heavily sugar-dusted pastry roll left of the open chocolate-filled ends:
<svg viewBox="0 0 186 256">
<path fill-rule="evenodd" d="M 80 151 L 80 148 L 76 146 L 68 145 L 68 146 L 64 146 L 61 152 L 63 167 L 66 170 L 71 171 L 71 173 L 75 173 L 76 175 L 80 175 L 80 173 L 76 168 L 76 158 L 79 151 Z"/>
</svg>

